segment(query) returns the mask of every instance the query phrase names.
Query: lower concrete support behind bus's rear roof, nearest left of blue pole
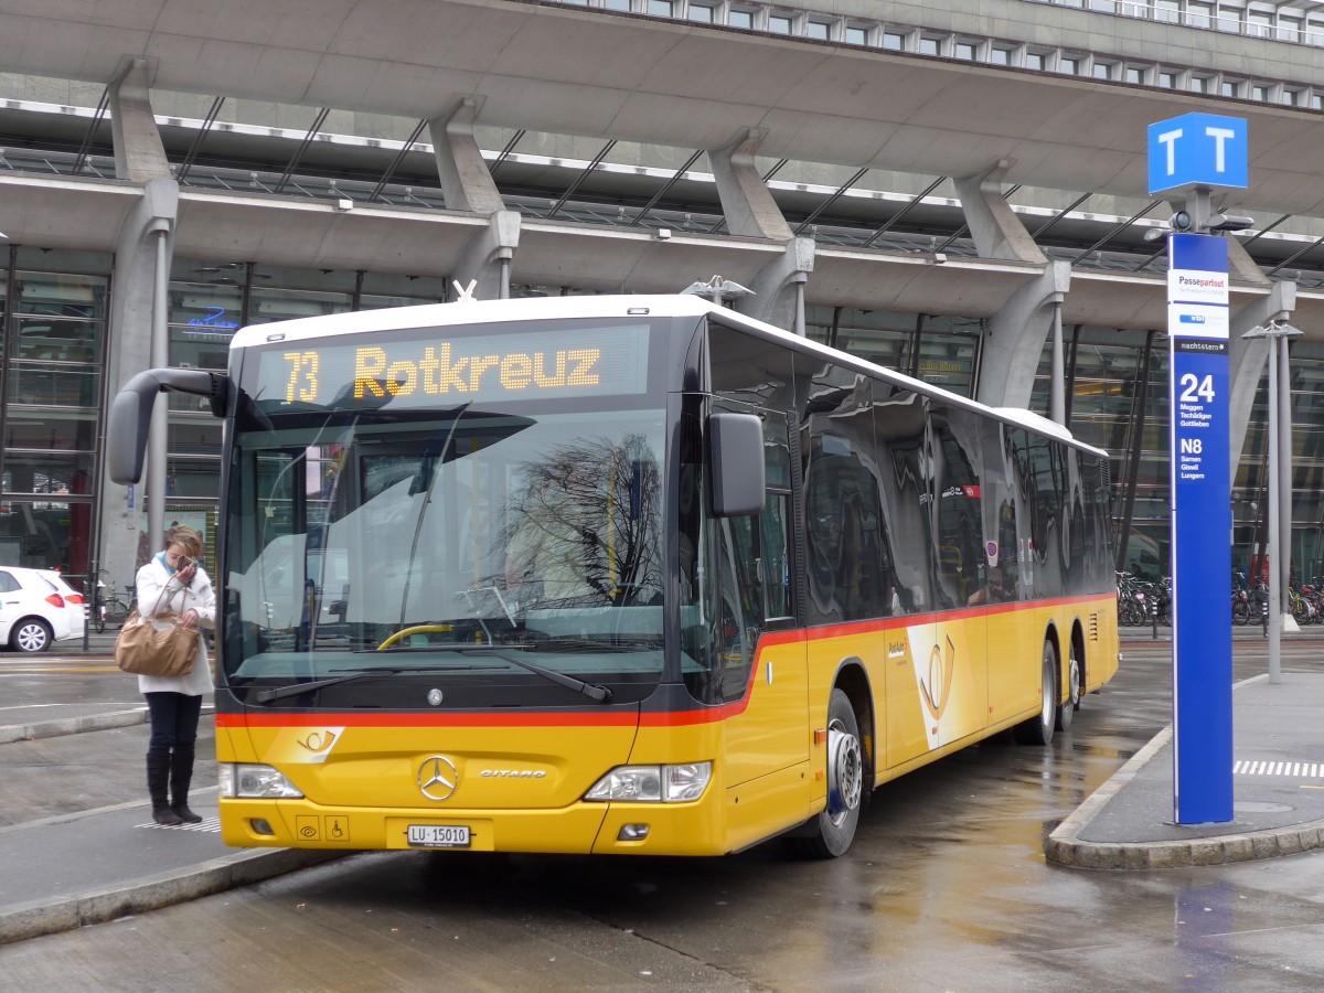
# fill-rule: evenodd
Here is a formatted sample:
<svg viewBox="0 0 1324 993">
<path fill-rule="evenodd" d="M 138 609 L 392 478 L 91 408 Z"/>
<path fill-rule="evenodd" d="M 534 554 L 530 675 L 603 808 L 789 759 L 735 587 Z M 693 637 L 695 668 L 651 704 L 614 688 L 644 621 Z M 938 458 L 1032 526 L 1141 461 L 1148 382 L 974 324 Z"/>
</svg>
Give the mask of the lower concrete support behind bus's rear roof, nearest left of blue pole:
<svg viewBox="0 0 1324 993">
<path fill-rule="evenodd" d="M 974 399 L 989 406 L 1017 406 L 1027 410 L 1034 392 L 1034 373 L 1043 355 L 1043 342 L 1067 289 L 1071 265 L 1054 261 L 1033 282 L 1022 286 L 989 318 L 980 356 L 980 381 Z M 1055 347 L 1061 343 L 1057 342 Z M 1058 368 L 1054 359 L 1054 369 Z"/>
</svg>

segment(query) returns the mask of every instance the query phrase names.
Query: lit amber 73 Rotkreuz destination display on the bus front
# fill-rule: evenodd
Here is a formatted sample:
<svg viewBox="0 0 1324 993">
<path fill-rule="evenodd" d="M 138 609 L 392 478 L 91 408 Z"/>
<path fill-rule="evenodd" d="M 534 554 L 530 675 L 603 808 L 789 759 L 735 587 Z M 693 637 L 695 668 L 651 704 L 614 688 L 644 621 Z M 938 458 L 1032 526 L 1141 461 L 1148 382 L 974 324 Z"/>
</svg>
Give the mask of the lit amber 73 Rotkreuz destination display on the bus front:
<svg viewBox="0 0 1324 993">
<path fill-rule="evenodd" d="M 643 392 L 645 324 L 506 334 L 426 328 L 261 351 L 258 401 L 354 409 Z M 248 377 L 245 377 L 248 379 Z"/>
</svg>

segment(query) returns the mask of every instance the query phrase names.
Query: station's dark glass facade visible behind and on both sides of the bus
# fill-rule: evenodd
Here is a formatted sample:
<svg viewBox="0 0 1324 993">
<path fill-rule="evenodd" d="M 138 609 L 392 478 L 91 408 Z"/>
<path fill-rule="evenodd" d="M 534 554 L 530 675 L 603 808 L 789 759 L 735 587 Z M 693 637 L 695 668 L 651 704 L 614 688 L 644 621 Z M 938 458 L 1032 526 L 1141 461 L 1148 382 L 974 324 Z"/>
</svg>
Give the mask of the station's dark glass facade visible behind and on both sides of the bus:
<svg viewBox="0 0 1324 993">
<path fill-rule="evenodd" d="M 0 279 L 0 564 L 86 573 L 97 557 L 98 438 L 111 258 L 9 246 Z M 514 295 L 564 295 L 569 286 L 515 286 Z M 169 363 L 224 369 L 234 331 L 249 323 L 351 310 L 434 303 L 440 278 L 301 270 L 175 260 Z M 974 393 L 984 322 L 932 314 L 806 307 L 806 332 L 870 361 L 961 396 Z M 1064 328 L 1071 430 L 1111 454 L 1113 510 L 1125 549 L 1119 565 L 1168 571 L 1168 343 L 1158 332 Z M 1031 408 L 1046 412 L 1051 348 L 1045 346 Z M 1324 344 L 1291 351 L 1292 561 L 1324 573 Z M 1251 410 L 1233 479 L 1233 556 L 1249 569 L 1267 535 L 1267 383 Z M 214 539 L 221 425 L 197 397 L 169 396 L 167 523 Z M 144 522 L 146 526 L 146 511 Z M 146 527 L 144 527 L 146 530 Z M 139 549 L 140 557 L 150 551 Z M 127 577 L 117 577 L 127 581 Z"/>
</svg>

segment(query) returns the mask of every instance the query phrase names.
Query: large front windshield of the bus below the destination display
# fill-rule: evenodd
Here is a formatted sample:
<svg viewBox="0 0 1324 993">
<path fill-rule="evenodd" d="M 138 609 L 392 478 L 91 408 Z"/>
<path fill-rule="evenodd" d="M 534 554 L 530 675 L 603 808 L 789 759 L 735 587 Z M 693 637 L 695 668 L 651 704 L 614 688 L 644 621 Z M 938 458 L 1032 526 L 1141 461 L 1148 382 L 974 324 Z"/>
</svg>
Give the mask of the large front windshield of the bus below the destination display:
<svg viewBox="0 0 1324 993">
<path fill-rule="evenodd" d="M 551 670 L 617 702 L 646 695 L 663 665 L 663 412 L 636 400 L 609 416 L 249 402 L 230 467 L 229 686 L 286 706 L 308 704 L 301 681 L 327 687 L 323 706 L 418 706 L 392 686 L 426 671 L 481 683 L 489 704 L 583 704 Z M 500 695 L 518 687 L 530 695 Z M 461 700 L 483 698 L 448 696 Z"/>
</svg>

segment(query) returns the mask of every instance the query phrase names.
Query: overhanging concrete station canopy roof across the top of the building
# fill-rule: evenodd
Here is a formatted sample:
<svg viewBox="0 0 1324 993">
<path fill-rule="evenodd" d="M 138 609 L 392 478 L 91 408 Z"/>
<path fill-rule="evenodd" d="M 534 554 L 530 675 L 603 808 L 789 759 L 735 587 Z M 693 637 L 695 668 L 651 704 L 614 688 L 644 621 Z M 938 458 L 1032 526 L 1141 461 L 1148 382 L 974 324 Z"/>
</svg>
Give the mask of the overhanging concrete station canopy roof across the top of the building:
<svg viewBox="0 0 1324 993">
<path fill-rule="evenodd" d="M 1173 207 L 1145 195 L 1145 132 L 1201 110 L 1249 120 L 1251 185 L 1215 201 L 1253 217 L 1238 241 L 1267 274 L 1324 287 L 1324 128 L 1298 109 L 551 5 L 159 7 L 0 12 L 0 65 L 83 81 L 73 107 L 0 105 L 0 167 L 113 177 L 105 85 L 142 57 L 191 189 L 442 211 L 426 122 L 469 95 L 507 205 L 531 218 L 722 236 L 703 150 L 756 128 L 761 175 L 820 246 L 972 257 L 952 177 L 1005 160 L 1002 195 L 1049 257 L 1160 275 L 1144 233 Z"/>
</svg>

